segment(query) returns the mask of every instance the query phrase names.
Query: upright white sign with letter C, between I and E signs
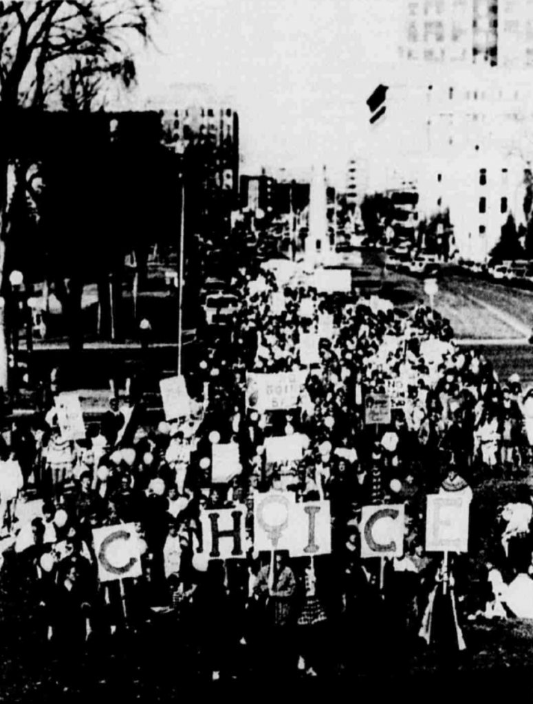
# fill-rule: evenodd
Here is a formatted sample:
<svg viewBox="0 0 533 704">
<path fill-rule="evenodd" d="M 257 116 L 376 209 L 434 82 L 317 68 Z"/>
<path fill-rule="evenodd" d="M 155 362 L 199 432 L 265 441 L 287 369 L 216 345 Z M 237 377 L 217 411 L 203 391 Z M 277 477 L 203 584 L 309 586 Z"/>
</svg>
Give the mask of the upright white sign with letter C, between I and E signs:
<svg viewBox="0 0 533 704">
<path fill-rule="evenodd" d="M 363 506 L 360 527 L 361 557 L 401 557 L 404 532 L 403 505 Z"/>
</svg>

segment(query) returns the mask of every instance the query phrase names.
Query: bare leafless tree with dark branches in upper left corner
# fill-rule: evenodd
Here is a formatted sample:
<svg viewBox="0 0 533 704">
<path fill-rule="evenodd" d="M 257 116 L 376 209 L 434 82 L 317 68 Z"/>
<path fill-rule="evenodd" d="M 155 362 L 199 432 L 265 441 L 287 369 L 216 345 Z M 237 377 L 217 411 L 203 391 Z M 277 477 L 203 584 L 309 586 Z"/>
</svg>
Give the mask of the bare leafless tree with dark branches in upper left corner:
<svg viewBox="0 0 533 704">
<path fill-rule="evenodd" d="M 39 111 L 68 106 L 70 98 L 89 109 L 104 84 L 135 79 L 134 49 L 151 41 L 160 0 L 25 0 L 0 2 L 0 108 L 15 124 L 20 108 Z M 91 77 L 92 76 L 92 77 Z M 63 96 L 63 98 L 61 98 Z M 80 96 L 82 101 L 80 102 Z M 67 104 L 65 105 L 65 100 Z M 8 199 L 10 155 L 0 146 L 0 291 L 5 289 L 6 249 L 12 218 Z M 16 173 L 16 188 L 27 188 Z M 0 386 L 7 386 L 4 306 L 0 306 Z"/>
</svg>

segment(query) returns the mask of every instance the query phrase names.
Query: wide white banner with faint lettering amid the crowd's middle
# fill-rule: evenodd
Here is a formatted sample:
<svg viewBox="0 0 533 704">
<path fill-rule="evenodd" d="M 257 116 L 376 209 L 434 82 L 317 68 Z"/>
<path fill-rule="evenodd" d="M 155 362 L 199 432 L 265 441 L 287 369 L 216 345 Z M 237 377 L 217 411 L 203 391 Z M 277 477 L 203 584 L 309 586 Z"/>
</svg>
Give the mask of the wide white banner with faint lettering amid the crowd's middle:
<svg viewBox="0 0 533 704">
<path fill-rule="evenodd" d="M 296 408 L 308 372 L 249 374 L 246 403 L 257 410 Z"/>
</svg>

